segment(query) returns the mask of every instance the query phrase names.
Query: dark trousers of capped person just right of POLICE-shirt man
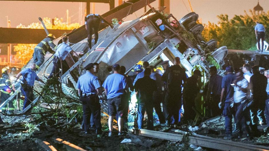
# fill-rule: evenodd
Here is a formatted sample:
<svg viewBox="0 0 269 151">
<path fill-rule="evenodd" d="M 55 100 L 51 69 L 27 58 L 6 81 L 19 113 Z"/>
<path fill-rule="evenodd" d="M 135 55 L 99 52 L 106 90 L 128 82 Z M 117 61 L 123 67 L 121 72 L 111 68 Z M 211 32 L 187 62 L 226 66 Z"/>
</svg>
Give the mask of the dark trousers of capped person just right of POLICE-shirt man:
<svg viewBox="0 0 269 151">
<path fill-rule="evenodd" d="M 188 94 L 190 95 L 190 94 Z M 194 95 L 193 95 L 194 96 Z M 184 120 L 194 120 L 196 116 L 196 112 L 192 110 L 192 107 L 195 107 L 195 96 L 183 96 L 183 107 L 184 107 Z"/>
</svg>

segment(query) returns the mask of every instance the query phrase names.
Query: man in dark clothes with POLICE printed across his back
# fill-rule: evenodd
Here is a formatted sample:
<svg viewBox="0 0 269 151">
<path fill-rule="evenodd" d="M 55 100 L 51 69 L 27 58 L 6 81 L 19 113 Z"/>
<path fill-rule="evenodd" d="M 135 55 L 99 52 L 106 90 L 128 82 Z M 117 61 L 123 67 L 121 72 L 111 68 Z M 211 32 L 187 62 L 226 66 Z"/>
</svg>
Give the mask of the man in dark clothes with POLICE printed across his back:
<svg viewBox="0 0 269 151">
<path fill-rule="evenodd" d="M 180 66 L 180 58 L 175 57 L 174 66 L 168 67 L 162 76 L 162 80 L 165 81 L 165 102 L 164 112 L 166 124 L 171 124 L 171 117 L 175 119 L 176 125 L 179 121 L 179 110 L 181 108 L 181 86 L 182 81 L 185 83 L 187 80 L 185 69 Z"/>
</svg>

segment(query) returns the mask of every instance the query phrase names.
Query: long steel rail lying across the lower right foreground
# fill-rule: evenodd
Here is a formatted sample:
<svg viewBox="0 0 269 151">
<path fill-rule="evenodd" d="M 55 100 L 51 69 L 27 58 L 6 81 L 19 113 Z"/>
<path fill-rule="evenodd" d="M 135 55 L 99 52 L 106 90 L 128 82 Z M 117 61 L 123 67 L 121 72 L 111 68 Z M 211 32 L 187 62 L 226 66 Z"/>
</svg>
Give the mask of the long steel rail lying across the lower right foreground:
<svg viewBox="0 0 269 151">
<path fill-rule="evenodd" d="M 166 133 L 159 132 L 147 129 L 140 130 L 129 130 L 130 133 L 138 134 L 140 136 L 152 137 L 157 139 L 165 139 L 171 141 L 182 141 L 184 135 L 182 134 L 174 134 L 174 133 Z M 252 145 L 252 144 L 244 144 L 239 142 L 232 142 L 224 139 L 216 139 L 207 136 L 202 136 L 198 134 L 192 134 L 188 136 L 189 144 L 194 144 L 201 147 L 211 148 L 211 149 L 219 149 L 224 151 L 269 151 L 269 147 Z"/>
</svg>

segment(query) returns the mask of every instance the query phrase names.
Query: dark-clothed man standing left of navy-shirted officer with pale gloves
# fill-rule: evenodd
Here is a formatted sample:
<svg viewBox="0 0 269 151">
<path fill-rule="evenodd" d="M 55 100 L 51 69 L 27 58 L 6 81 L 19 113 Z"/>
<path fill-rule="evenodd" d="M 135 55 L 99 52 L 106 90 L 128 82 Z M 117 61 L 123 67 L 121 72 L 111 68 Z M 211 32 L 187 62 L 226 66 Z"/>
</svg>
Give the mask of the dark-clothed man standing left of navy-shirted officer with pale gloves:
<svg viewBox="0 0 269 151">
<path fill-rule="evenodd" d="M 209 108 L 209 117 L 221 115 L 221 110 L 218 109 L 218 103 L 221 99 L 221 82 L 222 76 L 217 74 L 216 66 L 211 66 L 209 69 L 210 79 L 206 95 L 206 106 Z"/>
</svg>

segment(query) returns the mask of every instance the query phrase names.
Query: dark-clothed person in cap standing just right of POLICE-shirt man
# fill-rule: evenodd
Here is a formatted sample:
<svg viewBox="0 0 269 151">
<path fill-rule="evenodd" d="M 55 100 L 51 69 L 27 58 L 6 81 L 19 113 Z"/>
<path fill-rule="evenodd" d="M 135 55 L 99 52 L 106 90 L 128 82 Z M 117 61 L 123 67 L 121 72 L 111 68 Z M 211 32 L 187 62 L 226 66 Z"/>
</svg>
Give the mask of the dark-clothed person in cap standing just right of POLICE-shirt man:
<svg viewBox="0 0 269 151">
<path fill-rule="evenodd" d="M 184 84 L 185 86 L 183 89 L 183 106 L 185 121 L 195 119 L 196 112 L 192 108 L 195 108 L 195 98 L 200 92 L 198 80 L 201 76 L 201 72 L 199 70 L 195 70 L 193 72 L 193 76 L 189 77 Z"/>
</svg>

